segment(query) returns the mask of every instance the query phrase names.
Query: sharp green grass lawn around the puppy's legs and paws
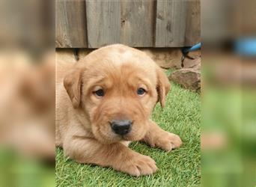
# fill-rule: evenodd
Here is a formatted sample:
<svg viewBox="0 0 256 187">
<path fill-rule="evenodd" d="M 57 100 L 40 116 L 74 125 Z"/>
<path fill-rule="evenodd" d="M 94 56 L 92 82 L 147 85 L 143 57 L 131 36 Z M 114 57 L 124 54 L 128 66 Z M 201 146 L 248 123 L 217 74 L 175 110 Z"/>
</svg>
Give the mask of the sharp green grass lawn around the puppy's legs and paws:
<svg viewBox="0 0 256 187">
<path fill-rule="evenodd" d="M 156 174 L 131 177 L 112 168 L 81 165 L 57 148 L 56 186 L 200 186 L 200 95 L 171 85 L 165 108 L 156 105 L 152 118 L 162 129 L 180 135 L 182 147 L 166 153 L 139 142 L 129 145 L 156 161 Z"/>
</svg>

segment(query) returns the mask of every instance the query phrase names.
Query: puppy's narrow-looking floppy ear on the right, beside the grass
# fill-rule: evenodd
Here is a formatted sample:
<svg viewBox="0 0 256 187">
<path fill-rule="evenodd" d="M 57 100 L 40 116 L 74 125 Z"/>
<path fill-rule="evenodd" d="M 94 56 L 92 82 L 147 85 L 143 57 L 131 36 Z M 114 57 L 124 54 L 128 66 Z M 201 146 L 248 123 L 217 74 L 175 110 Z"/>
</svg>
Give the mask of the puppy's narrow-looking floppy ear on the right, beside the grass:
<svg viewBox="0 0 256 187">
<path fill-rule="evenodd" d="M 165 96 L 171 88 L 170 82 L 160 67 L 156 67 L 157 85 L 156 91 L 158 93 L 158 102 L 161 107 L 165 107 Z"/>
</svg>

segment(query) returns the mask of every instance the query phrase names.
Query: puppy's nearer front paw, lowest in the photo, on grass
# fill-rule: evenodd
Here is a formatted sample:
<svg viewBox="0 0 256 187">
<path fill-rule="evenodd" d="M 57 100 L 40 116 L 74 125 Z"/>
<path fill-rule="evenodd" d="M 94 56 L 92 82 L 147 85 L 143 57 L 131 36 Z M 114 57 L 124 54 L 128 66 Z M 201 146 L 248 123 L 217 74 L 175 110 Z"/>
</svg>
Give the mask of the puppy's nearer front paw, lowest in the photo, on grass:
<svg viewBox="0 0 256 187">
<path fill-rule="evenodd" d="M 132 159 L 127 159 L 121 163 L 121 171 L 124 173 L 139 177 L 141 175 L 149 175 L 156 172 L 156 162 L 150 156 L 144 156 L 135 153 Z"/>
</svg>

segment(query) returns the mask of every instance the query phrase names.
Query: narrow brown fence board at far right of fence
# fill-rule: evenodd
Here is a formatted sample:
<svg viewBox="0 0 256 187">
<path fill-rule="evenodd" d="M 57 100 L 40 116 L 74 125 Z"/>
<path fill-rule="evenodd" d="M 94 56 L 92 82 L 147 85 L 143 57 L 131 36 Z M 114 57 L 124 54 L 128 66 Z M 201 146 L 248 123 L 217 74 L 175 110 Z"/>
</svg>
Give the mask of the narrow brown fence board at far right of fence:
<svg viewBox="0 0 256 187">
<path fill-rule="evenodd" d="M 200 0 L 188 1 L 186 13 L 186 33 L 184 46 L 192 46 L 201 40 Z"/>
</svg>

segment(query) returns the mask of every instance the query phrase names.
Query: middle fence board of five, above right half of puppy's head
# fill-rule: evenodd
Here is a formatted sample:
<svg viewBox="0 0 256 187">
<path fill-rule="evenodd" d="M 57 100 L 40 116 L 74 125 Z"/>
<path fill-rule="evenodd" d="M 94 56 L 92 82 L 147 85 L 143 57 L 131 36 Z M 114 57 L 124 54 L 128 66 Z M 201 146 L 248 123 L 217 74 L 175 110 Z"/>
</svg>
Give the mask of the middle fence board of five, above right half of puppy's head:
<svg viewBox="0 0 256 187">
<path fill-rule="evenodd" d="M 154 43 L 155 1 L 121 1 L 121 43 L 150 47 Z"/>
</svg>

